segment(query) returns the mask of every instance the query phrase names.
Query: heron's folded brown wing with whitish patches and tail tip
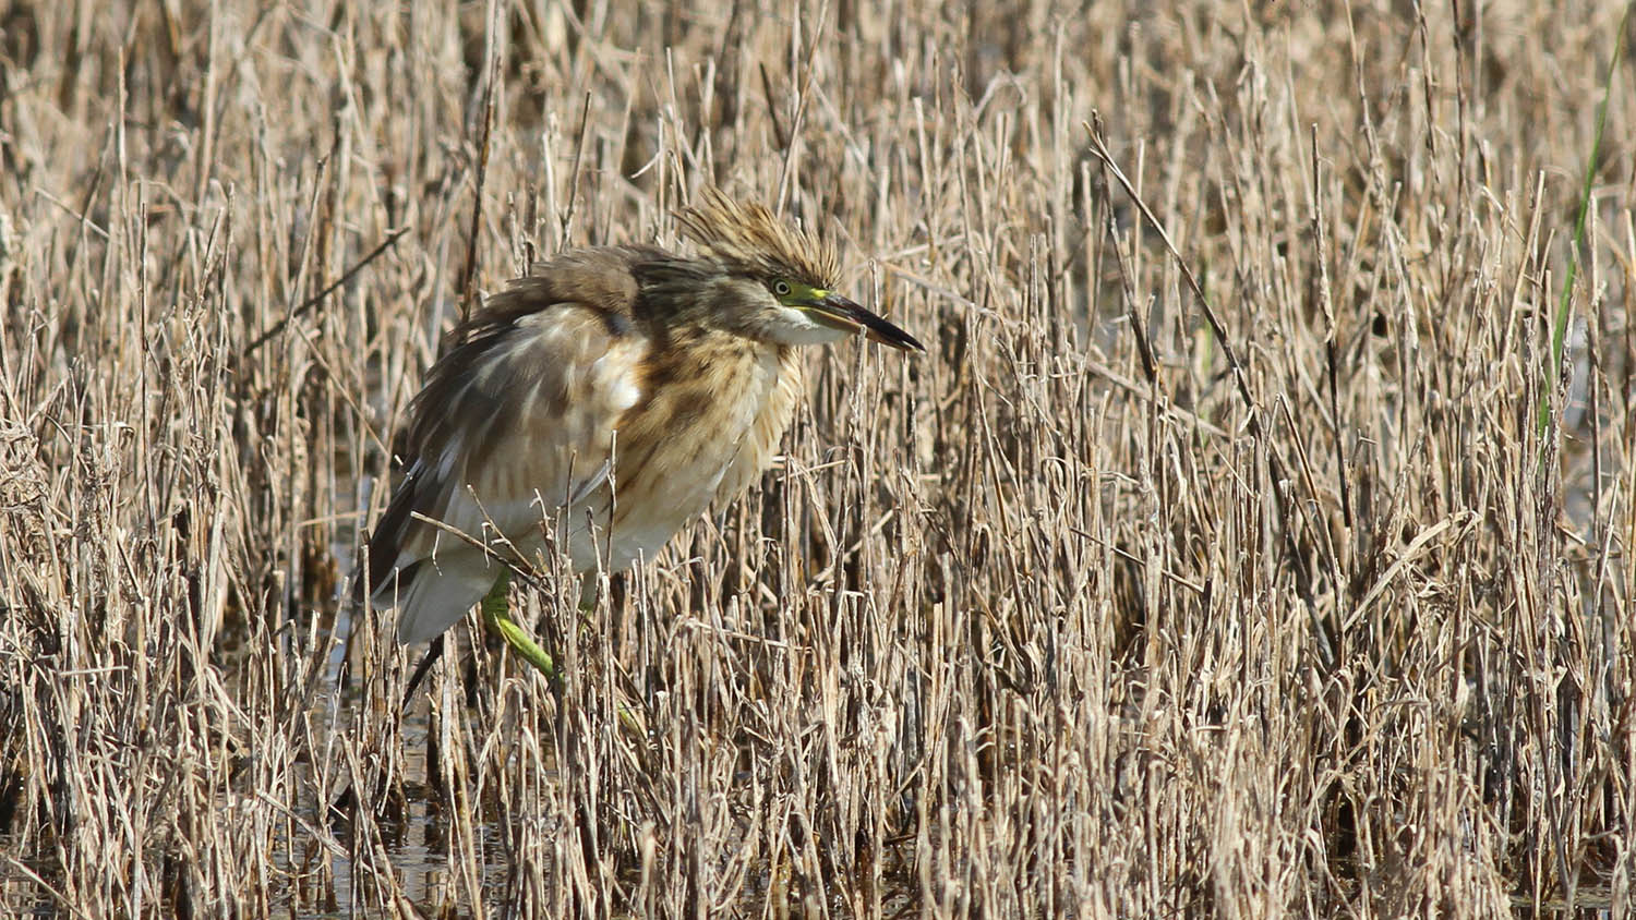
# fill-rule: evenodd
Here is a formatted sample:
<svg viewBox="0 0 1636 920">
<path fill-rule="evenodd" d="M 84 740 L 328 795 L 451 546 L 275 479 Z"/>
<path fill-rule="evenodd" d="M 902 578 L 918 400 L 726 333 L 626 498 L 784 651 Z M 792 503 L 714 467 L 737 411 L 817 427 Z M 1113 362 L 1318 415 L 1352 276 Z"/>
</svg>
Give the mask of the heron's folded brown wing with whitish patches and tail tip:
<svg viewBox="0 0 1636 920">
<path fill-rule="evenodd" d="M 630 261 L 641 255 L 579 250 L 538 266 L 491 297 L 432 368 L 409 407 L 404 479 L 370 538 L 371 601 L 399 606 L 399 641 L 440 634 L 501 572 L 445 528 L 527 544 L 607 476 L 649 348 L 631 320 Z"/>
</svg>

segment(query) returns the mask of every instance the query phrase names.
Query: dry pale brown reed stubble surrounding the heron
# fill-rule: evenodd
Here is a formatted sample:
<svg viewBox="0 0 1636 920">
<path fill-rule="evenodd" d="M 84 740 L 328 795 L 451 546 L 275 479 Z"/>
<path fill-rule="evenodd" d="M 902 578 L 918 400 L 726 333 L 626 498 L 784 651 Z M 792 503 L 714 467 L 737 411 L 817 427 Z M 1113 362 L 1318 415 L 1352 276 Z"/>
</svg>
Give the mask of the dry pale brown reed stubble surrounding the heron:
<svg viewBox="0 0 1636 920">
<path fill-rule="evenodd" d="M 5 7 L 0 912 L 1628 915 L 1618 7 Z M 440 330 L 708 180 L 928 355 L 399 717 Z"/>
</svg>

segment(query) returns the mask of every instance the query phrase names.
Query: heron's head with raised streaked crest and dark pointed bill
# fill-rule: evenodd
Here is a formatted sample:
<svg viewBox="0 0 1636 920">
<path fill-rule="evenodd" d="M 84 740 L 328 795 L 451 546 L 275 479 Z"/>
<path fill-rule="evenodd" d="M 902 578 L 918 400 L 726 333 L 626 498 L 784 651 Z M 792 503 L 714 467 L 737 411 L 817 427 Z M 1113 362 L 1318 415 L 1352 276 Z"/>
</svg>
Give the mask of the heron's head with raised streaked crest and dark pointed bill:
<svg viewBox="0 0 1636 920">
<path fill-rule="evenodd" d="M 707 188 L 677 219 L 720 266 L 710 293 L 717 324 L 779 345 L 821 345 L 862 332 L 903 351 L 924 351 L 913 335 L 833 289 L 834 247 L 761 204 Z"/>
</svg>

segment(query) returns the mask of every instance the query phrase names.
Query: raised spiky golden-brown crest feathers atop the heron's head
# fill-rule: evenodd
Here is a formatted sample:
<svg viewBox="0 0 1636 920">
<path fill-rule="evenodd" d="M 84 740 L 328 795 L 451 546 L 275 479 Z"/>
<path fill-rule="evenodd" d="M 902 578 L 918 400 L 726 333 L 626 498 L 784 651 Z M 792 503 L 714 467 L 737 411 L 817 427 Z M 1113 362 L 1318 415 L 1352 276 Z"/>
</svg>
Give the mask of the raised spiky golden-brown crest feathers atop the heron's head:
<svg viewBox="0 0 1636 920">
<path fill-rule="evenodd" d="M 841 258 L 808 227 L 793 227 L 754 201 L 733 201 L 707 186 L 699 201 L 676 214 L 682 230 L 710 255 L 753 275 L 790 275 L 815 288 L 841 279 Z"/>
</svg>

